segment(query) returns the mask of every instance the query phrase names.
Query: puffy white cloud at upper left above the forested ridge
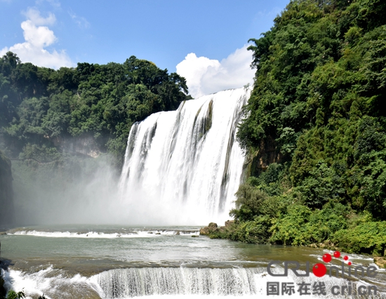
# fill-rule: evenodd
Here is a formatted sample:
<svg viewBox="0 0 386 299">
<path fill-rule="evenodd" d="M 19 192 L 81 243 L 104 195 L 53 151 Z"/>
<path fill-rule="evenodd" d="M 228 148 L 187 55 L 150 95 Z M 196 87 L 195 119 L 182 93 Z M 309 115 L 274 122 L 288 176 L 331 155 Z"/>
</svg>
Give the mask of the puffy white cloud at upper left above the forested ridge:
<svg viewBox="0 0 386 299">
<path fill-rule="evenodd" d="M 71 67 L 74 64 L 68 57 L 67 53 L 62 50 L 60 52 L 47 51 L 45 48 L 51 46 L 57 41 L 53 31 L 44 25 L 53 25 L 55 23 L 55 15 L 49 13 L 48 17 L 44 18 L 35 8 L 29 8 L 24 13 L 27 20 L 22 22 L 24 43 L 15 44 L 11 47 L 5 47 L 0 50 L 0 56 L 3 56 L 8 51 L 16 53 L 22 62 L 32 62 L 34 65 L 41 67 Z"/>
</svg>

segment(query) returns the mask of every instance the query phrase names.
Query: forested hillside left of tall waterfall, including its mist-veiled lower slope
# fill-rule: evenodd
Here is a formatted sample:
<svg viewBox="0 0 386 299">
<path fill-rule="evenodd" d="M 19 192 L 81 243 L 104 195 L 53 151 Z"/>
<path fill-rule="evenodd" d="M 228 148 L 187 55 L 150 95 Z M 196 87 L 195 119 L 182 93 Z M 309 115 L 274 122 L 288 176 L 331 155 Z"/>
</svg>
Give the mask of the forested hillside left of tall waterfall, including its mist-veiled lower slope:
<svg viewBox="0 0 386 299">
<path fill-rule="evenodd" d="M 54 70 L 6 53 L 0 211 L 7 217 L 0 215 L 0 225 L 79 222 L 86 209 L 93 212 L 84 221 L 106 222 L 106 198 L 114 194 L 131 125 L 189 98 L 184 78 L 135 56 Z"/>
</svg>

